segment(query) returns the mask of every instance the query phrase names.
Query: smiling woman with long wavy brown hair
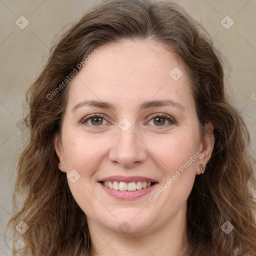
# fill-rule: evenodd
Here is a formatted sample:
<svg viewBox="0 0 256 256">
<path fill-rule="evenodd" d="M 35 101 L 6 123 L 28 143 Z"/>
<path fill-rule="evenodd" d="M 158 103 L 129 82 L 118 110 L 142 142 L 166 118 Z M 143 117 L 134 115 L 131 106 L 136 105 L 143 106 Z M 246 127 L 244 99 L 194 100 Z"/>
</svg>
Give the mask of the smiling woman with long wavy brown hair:
<svg viewBox="0 0 256 256">
<path fill-rule="evenodd" d="M 61 37 L 27 92 L 21 255 L 256 255 L 249 135 L 202 31 L 111 0 Z"/>
</svg>

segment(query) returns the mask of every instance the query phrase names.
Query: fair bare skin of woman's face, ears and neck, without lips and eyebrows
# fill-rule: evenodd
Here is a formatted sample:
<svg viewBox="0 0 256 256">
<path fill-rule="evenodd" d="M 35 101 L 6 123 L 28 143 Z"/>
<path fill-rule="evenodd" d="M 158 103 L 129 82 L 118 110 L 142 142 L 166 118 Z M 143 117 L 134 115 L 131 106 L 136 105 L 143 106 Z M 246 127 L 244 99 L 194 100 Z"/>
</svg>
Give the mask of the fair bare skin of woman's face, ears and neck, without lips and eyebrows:
<svg viewBox="0 0 256 256">
<path fill-rule="evenodd" d="M 104 44 L 98 51 L 69 84 L 61 134 L 55 137 L 63 164 L 60 170 L 68 174 L 75 169 L 80 175 L 74 183 L 67 180 L 87 217 L 89 255 L 182 256 L 188 246 L 187 197 L 195 176 L 201 174 L 199 164 L 206 165 L 210 158 L 213 127 L 208 125 L 211 133 L 200 136 L 187 75 L 175 54 L 160 43 L 124 40 Z M 178 80 L 169 75 L 174 67 L 183 73 Z M 143 101 L 162 99 L 178 102 L 182 108 L 138 108 Z M 72 111 L 83 100 L 107 101 L 116 109 L 83 105 Z M 100 124 L 93 118 L 82 122 L 93 113 L 103 113 L 105 118 Z M 157 117 L 150 117 L 161 113 L 175 122 L 163 119 L 157 124 Z M 118 127 L 123 118 L 131 123 L 127 131 Z M 148 197 L 197 151 L 197 159 L 150 202 Z M 146 176 L 158 184 L 149 194 L 121 200 L 108 195 L 97 182 L 110 175 Z M 130 226 L 127 233 L 118 228 L 123 221 Z"/>
</svg>

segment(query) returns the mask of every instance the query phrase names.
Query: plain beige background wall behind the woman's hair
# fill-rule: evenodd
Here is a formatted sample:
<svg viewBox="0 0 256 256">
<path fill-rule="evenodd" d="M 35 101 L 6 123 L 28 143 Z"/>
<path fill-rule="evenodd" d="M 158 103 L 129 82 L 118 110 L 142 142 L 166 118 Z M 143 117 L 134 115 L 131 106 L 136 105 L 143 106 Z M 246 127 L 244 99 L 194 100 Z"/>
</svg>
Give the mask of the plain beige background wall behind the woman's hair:
<svg viewBox="0 0 256 256">
<path fill-rule="evenodd" d="M 9 217 L 16 158 L 21 149 L 22 100 L 42 69 L 51 40 L 63 26 L 80 18 L 93 0 L 0 0 L 0 235 Z M 256 151 L 256 1 L 180 0 L 202 22 L 215 45 L 229 59 L 230 95 L 248 124 Z M 29 24 L 20 29 L 15 21 L 24 16 Z M 228 15 L 234 24 L 225 29 Z M 19 19 L 20 20 L 20 19 Z M 227 20 L 227 25 L 230 20 Z M 254 99 L 253 99 L 254 97 Z M 23 132 L 24 133 L 24 132 Z M 9 237 L 11 243 L 11 235 Z M 0 236 L 0 255 L 10 255 Z"/>
</svg>

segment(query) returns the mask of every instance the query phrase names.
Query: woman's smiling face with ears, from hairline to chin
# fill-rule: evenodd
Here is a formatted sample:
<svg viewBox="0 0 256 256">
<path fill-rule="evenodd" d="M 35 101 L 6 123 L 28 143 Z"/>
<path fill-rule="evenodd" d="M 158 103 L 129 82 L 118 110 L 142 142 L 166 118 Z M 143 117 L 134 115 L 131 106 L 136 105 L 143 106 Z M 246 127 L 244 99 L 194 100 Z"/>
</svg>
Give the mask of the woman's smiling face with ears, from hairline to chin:
<svg viewBox="0 0 256 256">
<path fill-rule="evenodd" d="M 184 217 L 199 164 L 207 163 L 213 145 L 200 137 L 174 53 L 150 41 L 97 49 L 68 85 L 55 139 L 60 168 L 88 223 L 150 232 Z"/>
</svg>

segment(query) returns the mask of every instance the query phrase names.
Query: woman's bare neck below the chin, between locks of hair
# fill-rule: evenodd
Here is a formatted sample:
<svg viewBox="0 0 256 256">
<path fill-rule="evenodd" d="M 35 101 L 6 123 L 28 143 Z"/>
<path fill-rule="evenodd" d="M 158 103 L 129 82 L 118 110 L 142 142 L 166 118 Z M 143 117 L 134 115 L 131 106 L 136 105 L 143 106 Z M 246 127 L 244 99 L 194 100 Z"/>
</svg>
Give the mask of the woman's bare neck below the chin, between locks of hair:
<svg viewBox="0 0 256 256">
<path fill-rule="evenodd" d="M 186 207 L 150 232 L 117 233 L 87 219 L 90 233 L 89 256 L 183 256 L 188 247 Z"/>
</svg>

